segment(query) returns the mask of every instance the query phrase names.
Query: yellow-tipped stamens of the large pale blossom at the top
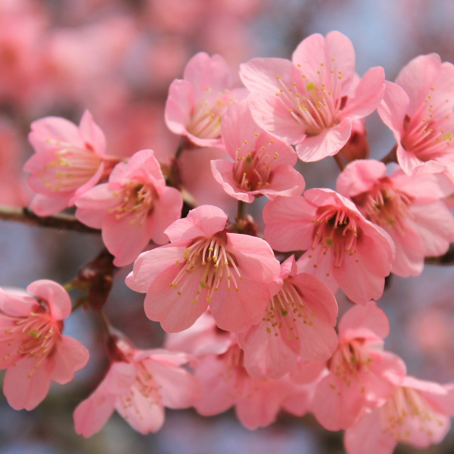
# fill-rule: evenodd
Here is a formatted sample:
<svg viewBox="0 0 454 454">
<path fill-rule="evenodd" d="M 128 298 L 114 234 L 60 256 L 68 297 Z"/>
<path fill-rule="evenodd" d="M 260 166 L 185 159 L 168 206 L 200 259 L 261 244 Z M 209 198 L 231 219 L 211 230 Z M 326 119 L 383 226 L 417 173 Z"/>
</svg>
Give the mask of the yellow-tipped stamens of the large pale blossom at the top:
<svg viewBox="0 0 454 454">
<path fill-rule="evenodd" d="M 282 86 L 276 96 L 301 124 L 306 135 L 314 136 L 340 121 L 338 114 L 346 101 L 341 95 L 342 71 L 335 71 L 334 59 L 331 59 L 330 69 L 325 63 L 320 64 L 318 81 L 308 81 L 306 74 L 301 72 L 301 64 L 297 64 L 297 67 L 301 79 L 289 87 L 284 84 L 281 76 L 276 76 Z"/>
</svg>

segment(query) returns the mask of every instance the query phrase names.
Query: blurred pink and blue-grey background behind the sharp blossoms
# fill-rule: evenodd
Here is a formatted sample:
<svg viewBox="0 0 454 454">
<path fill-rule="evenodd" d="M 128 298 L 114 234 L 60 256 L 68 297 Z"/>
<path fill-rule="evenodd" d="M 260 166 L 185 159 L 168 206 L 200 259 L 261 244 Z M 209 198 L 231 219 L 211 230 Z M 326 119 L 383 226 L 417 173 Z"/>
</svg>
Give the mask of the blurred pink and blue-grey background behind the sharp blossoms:
<svg viewBox="0 0 454 454">
<path fill-rule="evenodd" d="M 163 121 L 168 86 L 198 51 L 221 54 L 239 85 L 240 63 L 290 58 L 307 35 L 339 30 L 355 46 L 360 75 L 380 65 L 394 80 L 419 54 L 454 61 L 453 19 L 452 0 L 0 0 L 0 204 L 30 202 L 21 172 L 32 153 L 26 136 L 30 122 L 46 115 L 79 123 L 88 108 L 106 134 L 109 154 L 152 148 L 168 163 L 178 144 Z M 377 114 L 366 119 L 366 128 L 371 156 L 381 158 L 393 146 L 392 134 Z M 218 154 L 185 151 L 183 183 L 197 203 L 216 203 L 233 217 L 235 204 L 209 171 Z M 335 187 L 334 160 L 300 166 L 306 188 Z M 264 202 L 256 202 L 259 223 Z M 64 283 L 101 247 L 96 235 L 0 221 L 0 286 L 25 288 L 43 278 Z M 160 346 L 163 332 L 144 315 L 143 296 L 124 285 L 129 271 L 116 274 L 106 314 L 139 348 Z M 391 323 L 386 348 L 421 379 L 454 381 L 453 277 L 452 267 L 436 265 L 416 278 L 392 276 L 379 301 Z M 336 296 L 342 314 L 349 303 Z M 344 452 L 342 434 L 321 429 L 311 416 L 280 415 L 251 432 L 232 411 L 202 418 L 192 410 L 167 410 L 163 429 L 145 437 L 115 415 L 85 440 L 74 433 L 72 412 L 101 380 L 107 359 L 90 311 L 77 311 L 65 329 L 89 348 L 89 365 L 68 385 L 53 383 L 31 412 L 12 410 L 0 395 L 0 454 Z M 396 449 L 414 452 L 421 451 Z M 424 452 L 452 454 L 454 435 Z"/>
</svg>

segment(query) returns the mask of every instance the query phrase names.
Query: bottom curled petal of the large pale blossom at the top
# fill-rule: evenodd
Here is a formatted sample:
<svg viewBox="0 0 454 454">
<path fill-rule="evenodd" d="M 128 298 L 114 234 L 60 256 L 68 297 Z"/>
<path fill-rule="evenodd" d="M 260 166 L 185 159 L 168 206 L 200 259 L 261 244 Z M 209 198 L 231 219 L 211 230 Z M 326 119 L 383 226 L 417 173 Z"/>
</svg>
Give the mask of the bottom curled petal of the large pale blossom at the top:
<svg viewBox="0 0 454 454">
<path fill-rule="evenodd" d="M 307 136 L 296 144 L 296 153 L 302 161 L 320 161 L 333 156 L 347 143 L 351 135 L 351 120 L 344 118 L 332 128 L 323 129 L 315 136 Z"/>
</svg>

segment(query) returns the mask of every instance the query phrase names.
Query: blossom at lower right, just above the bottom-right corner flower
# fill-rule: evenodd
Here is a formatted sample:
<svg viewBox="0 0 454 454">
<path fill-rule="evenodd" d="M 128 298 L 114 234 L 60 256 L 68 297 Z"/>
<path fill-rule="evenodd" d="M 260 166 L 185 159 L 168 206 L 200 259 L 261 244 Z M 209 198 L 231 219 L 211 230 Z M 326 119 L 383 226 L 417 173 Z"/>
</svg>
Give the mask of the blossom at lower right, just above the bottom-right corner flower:
<svg viewBox="0 0 454 454">
<path fill-rule="evenodd" d="M 389 334 L 385 313 L 374 301 L 352 307 L 339 324 L 339 345 L 318 383 L 313 412 L 328 430 L 350 427 L 366 408 L 382 405 L 406 375 L 405 364 L 383 351 Z"/>
</svg>

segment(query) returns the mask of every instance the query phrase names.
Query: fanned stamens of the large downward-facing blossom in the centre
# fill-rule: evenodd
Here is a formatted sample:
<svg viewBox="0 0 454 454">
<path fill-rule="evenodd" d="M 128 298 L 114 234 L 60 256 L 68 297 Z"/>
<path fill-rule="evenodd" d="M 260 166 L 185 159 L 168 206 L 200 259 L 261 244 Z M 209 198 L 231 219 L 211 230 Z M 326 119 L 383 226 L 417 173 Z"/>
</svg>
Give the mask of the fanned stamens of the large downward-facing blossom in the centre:
<svg viewBox="0 0 454 454">
<path fill-rule="evenodd" d="M 200 276 L 192 304 L 197 304 L 202 291 L 207 292 L 206 301 L 211 303 L 212 295 L 222 285 L 222 280 L 227 290 L 234 288 L 239 291 L 237 279 L 242 280 L 242 276 L 235 263 L 235 257 L 225 246 L 226 242 L 221 237 L 202 238 L 195 241 L 184 251 L 183 260 L 186 263 L 170 286 L 177 290 L 178 295 L 182 295 L 185 287 L 192 280 L 191 274 L 195 272 Z M 176 265 L 180 265 L 180 261 L 177 261 Z"/>
</svg>

